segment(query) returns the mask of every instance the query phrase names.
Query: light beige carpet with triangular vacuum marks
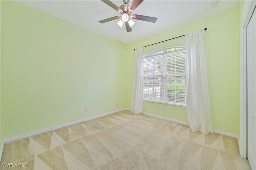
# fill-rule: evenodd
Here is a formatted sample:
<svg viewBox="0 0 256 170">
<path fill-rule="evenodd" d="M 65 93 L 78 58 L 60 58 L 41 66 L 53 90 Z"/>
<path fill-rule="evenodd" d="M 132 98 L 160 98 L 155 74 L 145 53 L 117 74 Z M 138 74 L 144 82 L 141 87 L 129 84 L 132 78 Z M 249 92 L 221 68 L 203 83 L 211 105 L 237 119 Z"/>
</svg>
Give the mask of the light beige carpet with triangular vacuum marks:
<svg viewBox="0 0 256 170">
<path fill-rule="evenodd" d="M 11 168 L 2 167 L 12 163 Z M 121 111 L 6 143 L 1 169 L 250 169 L 236 138 Z"/>
</svg>

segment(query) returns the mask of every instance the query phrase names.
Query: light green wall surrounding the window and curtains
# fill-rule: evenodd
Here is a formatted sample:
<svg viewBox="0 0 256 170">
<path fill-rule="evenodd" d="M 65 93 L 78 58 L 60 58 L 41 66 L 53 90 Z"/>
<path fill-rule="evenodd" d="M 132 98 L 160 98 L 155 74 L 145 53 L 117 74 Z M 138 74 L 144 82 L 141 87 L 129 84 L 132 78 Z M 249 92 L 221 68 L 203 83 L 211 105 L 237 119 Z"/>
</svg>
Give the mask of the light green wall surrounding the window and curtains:
<svg viewBox="0 0 256 170">
<path fill-rule="evenodd" d="M 205 31 L 205 55 L 213 127 L 216 130 L 238 134 L 240 124 L 239 6 L 131 43 L 127 64 L 134 65 L 134 48 L 195 32 L 205 27 L 208 28 Z M 185 45 L 185 38 L 152 45 L 143 50 L 144 54 L 147 54 L 162 47 L 175 45 Z M 127 79 L 130 83 L 127 86 L 126 105 L 129 108 L 134 67 L 127 69 Z M 162 106 L 165 106 L 165 111 L 162 111 Z M 144 101 L 143 111 L 187 122 L 186 107 Z"/>
</svg>

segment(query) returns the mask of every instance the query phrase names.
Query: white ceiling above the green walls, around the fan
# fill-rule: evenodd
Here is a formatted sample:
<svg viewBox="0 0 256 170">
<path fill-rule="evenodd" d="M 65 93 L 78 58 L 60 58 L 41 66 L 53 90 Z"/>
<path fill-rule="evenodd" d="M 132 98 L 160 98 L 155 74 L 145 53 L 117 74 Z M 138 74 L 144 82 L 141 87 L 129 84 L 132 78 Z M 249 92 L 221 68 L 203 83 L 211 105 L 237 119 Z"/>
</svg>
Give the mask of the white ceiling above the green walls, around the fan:
<svg viewBox="0 0 256 170">
<path fill-rule="evenodd" d="M 152 16 L 158 20 L 156 23 L 134 20 L 132 32 L 126 33 L 125 26 L 120 28 L 116 24 L 118 20 L 104 24 L 98 22 L 120 16 L 119 12 L 100 0 L 17 0 L 17 2 L 122 43 L 131 43 L 238 5 L 238 0 L 219 0 L 218 5 L 214 7 L 210 6 L 212 0 L 144 0 L 133 14 Z M 123 4 L 122 0 L 111 0 L 111 2 L 116 6 Z"/>
</svg>

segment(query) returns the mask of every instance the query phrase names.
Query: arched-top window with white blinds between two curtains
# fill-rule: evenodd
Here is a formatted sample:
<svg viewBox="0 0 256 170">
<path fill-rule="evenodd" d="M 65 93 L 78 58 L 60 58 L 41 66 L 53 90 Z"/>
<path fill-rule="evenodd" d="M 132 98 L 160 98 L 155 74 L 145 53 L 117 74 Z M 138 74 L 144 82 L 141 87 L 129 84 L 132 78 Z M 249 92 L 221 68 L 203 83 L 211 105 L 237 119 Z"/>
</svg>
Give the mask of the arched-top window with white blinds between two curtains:
<svg viewBox="0 0 256 170">
<path fill-rule="evenodd" d="M 143 57 L 143 100 L 186 106 L 186 47 L 164 48 Z"/>
</svg>

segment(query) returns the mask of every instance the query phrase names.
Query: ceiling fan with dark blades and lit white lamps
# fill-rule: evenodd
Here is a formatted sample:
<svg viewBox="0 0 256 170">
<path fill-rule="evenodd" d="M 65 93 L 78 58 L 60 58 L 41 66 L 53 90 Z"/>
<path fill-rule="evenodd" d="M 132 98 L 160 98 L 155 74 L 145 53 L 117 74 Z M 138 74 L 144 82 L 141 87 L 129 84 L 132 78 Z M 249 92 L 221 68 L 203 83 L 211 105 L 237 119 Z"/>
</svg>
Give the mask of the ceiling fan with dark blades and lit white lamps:
<svg viewBox="0 0 256 170">
<path fill-rule="evenodd" d="M 120 12 L 120 14 L 122 15 L 122 16 L 114 16 L 111 18 L 107 18 L 105 20 L 98 21 L 102 24 L 105 22 L 109 22 L 109 21 L 121 18 L 121 20 L 119 20 L 117 23 L 118 26 L 122 28 L 122 26 L 125 24 L 126 31 L 131 32 L 132 31 L 131 27 L 135 24 L 135 22 L 130 18 L 133 18 L 135 20 L 153 22 L 153 23 L 155 23 L 157 20 L 157 18 L 151 17 L 151 16 L 143 16 L 143 15 L 137 15 L 137 14 L 132 15 L 132 12 L 134 12 L 134 10 L 140 5 L 140 3 L 143 0 L 133 0 L 130 5 L 128 4 L 130 0 L 123 0 L 124 4 L 122 4 L 120 7 L 116 6 L 109 0 L 101 0 L 101 1 L 107 4 L 108 6 L 110 6 L 111 8 L 114 8 L 114 10 Z"/>
</svg>

